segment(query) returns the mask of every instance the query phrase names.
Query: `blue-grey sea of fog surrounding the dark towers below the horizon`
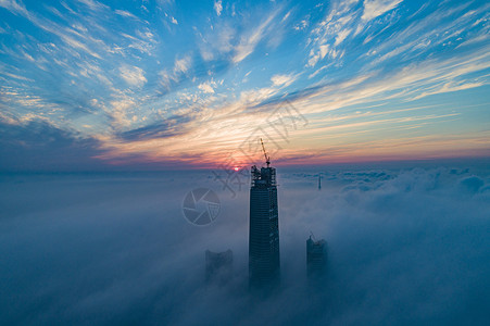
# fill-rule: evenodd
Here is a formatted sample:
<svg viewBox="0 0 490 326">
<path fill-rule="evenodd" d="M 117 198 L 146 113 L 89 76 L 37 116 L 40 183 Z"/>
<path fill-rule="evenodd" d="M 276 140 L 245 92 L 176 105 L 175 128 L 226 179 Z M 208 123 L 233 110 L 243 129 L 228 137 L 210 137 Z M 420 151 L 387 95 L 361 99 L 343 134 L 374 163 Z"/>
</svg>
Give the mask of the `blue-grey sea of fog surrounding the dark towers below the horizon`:
<svg viewBox="0 0 490 326">
<path fill-rule="evenodd" d="M 485 162 L 279 168 L 281 285 L 268 296 L 248 290 L 246 173 L 0 177 L 2 325 L 490 322 Z M 219 198 L 206 226 L 183 214 L 197 188 Z M 311 233 L 328 242 L 328 274 L 314 287 Z M 224 285 L 205 284 L 208 249 L 233 250 Z"/>
</svg>

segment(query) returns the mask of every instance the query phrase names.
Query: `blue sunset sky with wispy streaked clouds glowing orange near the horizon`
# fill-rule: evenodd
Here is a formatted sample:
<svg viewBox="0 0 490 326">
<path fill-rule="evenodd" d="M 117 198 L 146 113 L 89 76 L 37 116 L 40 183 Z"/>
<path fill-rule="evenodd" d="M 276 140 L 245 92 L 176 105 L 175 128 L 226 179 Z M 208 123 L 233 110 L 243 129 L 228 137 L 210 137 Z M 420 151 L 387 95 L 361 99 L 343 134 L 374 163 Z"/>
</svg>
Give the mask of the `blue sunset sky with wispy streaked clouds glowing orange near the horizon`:
<svg viewBox="0 0 490 326">
<path fill-rule="evenodd" d="M 0 168 L 490 155 L 488 1 L 0 0 Z M 231 163 L 229 163 L 231 162 Z"/>
</svg>

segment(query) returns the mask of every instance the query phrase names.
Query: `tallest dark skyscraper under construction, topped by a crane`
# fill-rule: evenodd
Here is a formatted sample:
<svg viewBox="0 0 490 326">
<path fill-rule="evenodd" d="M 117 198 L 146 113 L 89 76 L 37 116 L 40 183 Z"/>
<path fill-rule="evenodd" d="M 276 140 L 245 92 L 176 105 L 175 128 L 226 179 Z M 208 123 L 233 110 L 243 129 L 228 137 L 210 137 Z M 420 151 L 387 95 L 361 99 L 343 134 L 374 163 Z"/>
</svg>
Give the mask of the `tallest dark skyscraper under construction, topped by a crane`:
<svg viewBox="0 0 490 326">
<path fill-rule="evenodd" d="M 251 287 L 264 287 L 279 281 L 279 215 L 277 206 L 276 170 L 252 166 L 250 188 L 249 281 Z"/>
</svg>

